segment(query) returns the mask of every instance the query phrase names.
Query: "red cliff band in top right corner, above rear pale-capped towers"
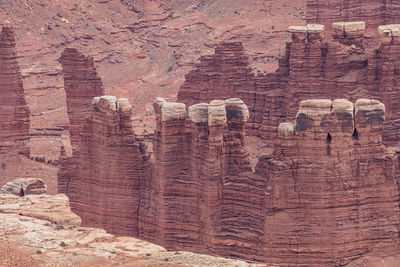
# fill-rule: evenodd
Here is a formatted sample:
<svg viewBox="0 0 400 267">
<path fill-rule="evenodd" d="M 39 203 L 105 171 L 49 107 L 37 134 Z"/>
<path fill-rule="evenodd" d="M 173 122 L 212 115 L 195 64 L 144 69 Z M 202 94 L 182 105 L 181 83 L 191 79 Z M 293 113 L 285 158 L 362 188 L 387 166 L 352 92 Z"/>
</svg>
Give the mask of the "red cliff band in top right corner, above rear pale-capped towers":
<svg viewBox="0 0 400 267">
<path fill-rule="evenodd" d="M 330 27 L 337 21 L 365 21 L 369 28 L 398 23 L 400 3 L 378 0 L 307 0 L 307 22 Z"/>
</svg>

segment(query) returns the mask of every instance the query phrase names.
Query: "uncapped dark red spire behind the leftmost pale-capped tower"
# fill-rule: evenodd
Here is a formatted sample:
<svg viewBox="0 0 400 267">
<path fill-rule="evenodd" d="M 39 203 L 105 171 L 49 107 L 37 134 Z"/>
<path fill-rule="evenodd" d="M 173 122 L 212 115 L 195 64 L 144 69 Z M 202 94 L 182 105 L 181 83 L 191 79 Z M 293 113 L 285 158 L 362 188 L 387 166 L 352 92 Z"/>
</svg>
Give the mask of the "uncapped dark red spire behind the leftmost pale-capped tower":
<svg viewBox="0 0 400 267">
<path fill-rule="evenodd" d="M 104 95 L 101 79 L 97 76 L 93 58 L 75 48 L 66 48 L 61 54 L 64 88 L 67 95 L 70 140 L 73 148 L 79 145 L 79 134 L 86 123 L 93 97 Z"/>
</svg>

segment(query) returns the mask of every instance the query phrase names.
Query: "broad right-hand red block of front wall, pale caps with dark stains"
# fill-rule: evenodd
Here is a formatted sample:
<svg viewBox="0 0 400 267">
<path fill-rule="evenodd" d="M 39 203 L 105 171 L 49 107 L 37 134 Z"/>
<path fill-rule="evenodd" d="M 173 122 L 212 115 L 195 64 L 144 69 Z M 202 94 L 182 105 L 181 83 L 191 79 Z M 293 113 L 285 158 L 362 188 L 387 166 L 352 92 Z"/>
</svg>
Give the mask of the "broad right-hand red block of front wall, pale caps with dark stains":
<svg viewBox="0 0 400 267">
<path fill-rule="evenodd" d="M 395 153 L 382 144 L 376 100 L 305 100 L 279 126 L 257 173 L 265 191 L 263 250 L 273 264 L 343 266 L 399 249 Z"/>
</svg>

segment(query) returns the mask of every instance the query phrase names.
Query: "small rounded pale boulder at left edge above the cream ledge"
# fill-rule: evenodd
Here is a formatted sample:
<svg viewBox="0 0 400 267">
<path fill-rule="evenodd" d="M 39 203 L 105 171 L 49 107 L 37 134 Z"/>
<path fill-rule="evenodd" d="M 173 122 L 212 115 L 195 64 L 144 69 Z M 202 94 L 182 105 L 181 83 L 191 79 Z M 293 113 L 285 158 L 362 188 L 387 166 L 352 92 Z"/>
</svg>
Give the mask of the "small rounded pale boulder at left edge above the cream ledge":
<svg viewBox="0 0 400 267">
<path fill-rule="evenodd" d="M 40 195 L 47 193 L 47 186 L 39 178 L 18 178 L 1 187 L 0 193 L 9 193 L 17 196 Z"/>
</svg>

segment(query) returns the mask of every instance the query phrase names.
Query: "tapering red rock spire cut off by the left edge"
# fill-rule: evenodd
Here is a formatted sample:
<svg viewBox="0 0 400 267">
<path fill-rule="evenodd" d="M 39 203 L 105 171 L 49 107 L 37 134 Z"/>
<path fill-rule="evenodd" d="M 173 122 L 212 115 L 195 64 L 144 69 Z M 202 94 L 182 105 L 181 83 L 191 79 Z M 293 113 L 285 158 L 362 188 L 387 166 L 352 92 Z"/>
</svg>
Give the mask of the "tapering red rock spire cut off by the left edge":
<svg viewBox="0 0 400 267">
<path fill-rule="evenodd" d="M 19 152 L 29 157 L 29 109 L 8 22 L 0 33 L 0 92 L 0 154 Z"/>
</svg>

